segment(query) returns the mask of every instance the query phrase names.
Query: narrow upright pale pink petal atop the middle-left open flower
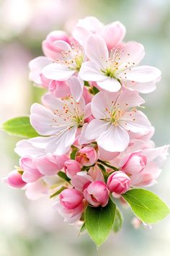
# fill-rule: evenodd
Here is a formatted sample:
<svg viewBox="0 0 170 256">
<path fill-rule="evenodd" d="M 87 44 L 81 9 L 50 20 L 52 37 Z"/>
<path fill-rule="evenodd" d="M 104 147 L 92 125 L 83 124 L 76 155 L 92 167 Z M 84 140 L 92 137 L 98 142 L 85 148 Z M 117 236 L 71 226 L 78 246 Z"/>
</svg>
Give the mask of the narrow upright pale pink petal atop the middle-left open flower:
<svg viewBox="0 0 170 256">
<path fill-rule="evenodd" d="M 70 80 L 68 80 L 68 84 L 70 86 L 71 95 L 73 95 L 74 100 L 78 102 L 83 93 L 84 81 L 78 77 L 73 76 L 70 78 Z"/>
</svg>

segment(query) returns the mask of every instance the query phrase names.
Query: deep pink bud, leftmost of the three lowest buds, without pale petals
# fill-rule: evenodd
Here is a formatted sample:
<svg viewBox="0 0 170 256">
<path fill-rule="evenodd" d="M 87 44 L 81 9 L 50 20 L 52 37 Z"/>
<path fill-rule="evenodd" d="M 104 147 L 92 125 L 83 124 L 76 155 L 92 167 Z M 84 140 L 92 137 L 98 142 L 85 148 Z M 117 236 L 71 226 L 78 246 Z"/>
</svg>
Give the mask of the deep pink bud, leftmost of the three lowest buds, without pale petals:
<svg viewBox="0 0 170 256">
<path fill-rule="evenodd" d="M 60 194 L 60 202 L 64 208 L 73 210 L 77 208 L 84 199 L 81 192 L 76 189 L 64 189 Z"/>
</svg>

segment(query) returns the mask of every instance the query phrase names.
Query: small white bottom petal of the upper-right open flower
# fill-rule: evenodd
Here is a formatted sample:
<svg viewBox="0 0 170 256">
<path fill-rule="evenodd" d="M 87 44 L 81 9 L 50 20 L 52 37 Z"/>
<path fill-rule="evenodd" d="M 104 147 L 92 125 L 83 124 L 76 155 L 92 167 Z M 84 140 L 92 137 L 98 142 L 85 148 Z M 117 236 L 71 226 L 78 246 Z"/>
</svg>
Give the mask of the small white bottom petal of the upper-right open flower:
<svg viewBox="0 0 170 256">
<path fill-rule="evenodd" d="M 117 92 L 121 88 L 120 82 L 111 77 L 106 77 L 104 81 L 97 82 L 97 85 L 104 90 L 108 90 L 109 92 Z"/>
</svg>

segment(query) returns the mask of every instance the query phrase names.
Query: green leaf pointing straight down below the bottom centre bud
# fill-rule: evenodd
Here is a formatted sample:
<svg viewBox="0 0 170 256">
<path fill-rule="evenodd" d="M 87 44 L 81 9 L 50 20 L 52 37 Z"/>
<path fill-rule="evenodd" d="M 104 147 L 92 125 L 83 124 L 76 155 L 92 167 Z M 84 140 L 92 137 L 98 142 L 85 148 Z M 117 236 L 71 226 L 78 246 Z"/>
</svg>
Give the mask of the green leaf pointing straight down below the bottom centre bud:
<svg viewBox="0 0 170 256">
<path fill-rule="evenodd" d="M 108 204 L 103 207 L 87 206 L 85 212 L 86 229 L 91 239 L 99 247 L 109 236 L 115 218 L 116 206 L 109 199 Z"/>
</svg>

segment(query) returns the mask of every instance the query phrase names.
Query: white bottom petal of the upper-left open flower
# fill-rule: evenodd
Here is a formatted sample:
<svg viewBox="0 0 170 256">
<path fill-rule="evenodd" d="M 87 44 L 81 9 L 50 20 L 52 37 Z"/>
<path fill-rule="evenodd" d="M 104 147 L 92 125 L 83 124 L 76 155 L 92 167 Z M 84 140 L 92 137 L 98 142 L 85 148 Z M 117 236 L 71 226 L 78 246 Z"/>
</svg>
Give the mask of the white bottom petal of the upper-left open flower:
<svg viewBox="0 0 170 256">
<path fill-rule="evenodd" d="M 51 80 L 66 81 L 68 80 L 76 70 L 69 69 L 67 66 L 53 63 L 42 69 L 42 74 Z"/>
</svg>

